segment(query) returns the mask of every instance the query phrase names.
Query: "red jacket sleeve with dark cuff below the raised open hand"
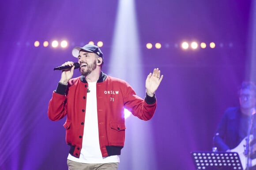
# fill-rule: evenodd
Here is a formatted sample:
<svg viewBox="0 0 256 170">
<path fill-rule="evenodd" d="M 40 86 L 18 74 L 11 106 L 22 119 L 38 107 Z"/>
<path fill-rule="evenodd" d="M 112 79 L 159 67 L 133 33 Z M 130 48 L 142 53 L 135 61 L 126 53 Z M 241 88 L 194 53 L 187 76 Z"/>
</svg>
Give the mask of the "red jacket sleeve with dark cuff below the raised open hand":
<svg viewBox="0 0 256 170">
<path fill-rule="evenodd" d="M 146 94 L 144 99 L 136 95 L 135 91 L 127 84 L 127 91 L 124 94 L 124 106 L 142 120 L 150 120 L 156 109 L 156 98 Z"/>
</svg>

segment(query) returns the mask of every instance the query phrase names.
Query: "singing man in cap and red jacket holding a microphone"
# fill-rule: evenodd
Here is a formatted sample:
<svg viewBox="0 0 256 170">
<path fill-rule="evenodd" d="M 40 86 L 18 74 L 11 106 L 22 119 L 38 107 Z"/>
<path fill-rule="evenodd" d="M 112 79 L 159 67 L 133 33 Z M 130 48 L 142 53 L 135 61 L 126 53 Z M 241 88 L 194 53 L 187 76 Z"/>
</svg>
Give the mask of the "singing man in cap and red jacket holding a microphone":
<svg viewBox="0 0 256 170">
<path fill-rule="evenodd" d="M 151 119 L 163 75 L 158 68 L 148 74 L 143 99 L 124 80 L 102 72 L 103 53 L 98 46 L 75 47 L 72 55 L 78 59 L 81 76 L 72 79 L 74 63 L 65 62 L 70 69 L 62 71 L 48 108 L 53 121 L 67 116 L 68 169 L 117 170 L 124 147 L 124 107 L 139 119 Z"/>
</svg>

